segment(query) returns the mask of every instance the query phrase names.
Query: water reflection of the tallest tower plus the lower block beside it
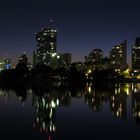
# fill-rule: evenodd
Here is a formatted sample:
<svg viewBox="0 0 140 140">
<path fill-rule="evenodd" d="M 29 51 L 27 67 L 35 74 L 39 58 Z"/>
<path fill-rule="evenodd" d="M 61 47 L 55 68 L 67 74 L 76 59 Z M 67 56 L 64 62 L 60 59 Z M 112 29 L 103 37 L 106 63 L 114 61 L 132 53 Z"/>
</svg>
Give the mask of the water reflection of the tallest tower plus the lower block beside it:
<svg viewBox="0 0 140 140">
<path fill-rule="evenodd" d="M 41 93 L 41 94 L 40 94 Z M 33 128 L 48 135 L 48 139 L 56 131 L 56 109 L 58 106 L 69 106 L 71 94 L 66 89 L 34 91 L 32 104 L 35 107 Z"/>
</svg>

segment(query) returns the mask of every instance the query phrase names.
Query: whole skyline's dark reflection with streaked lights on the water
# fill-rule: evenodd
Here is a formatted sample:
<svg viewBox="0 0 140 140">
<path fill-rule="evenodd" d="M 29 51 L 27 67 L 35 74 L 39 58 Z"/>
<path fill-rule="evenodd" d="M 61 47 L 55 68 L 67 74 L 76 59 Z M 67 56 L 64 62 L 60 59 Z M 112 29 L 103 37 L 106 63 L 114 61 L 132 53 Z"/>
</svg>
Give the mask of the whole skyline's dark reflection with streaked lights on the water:
<svg viewBox="0 0 140 140">
<path fill-rule="evenodd" d="M 13 89 L 12 89 L 13 90 Z M 10 90 L 0 89 L 0 102 L 5 103 L 12 96 Z M 22 104 L 26 104 L 28 96 L 32 96 L 32 106 L 35 109 L 33 129 L 46 134 L 48 139 L 57 131 L 56 110 L 58 107 L 69 107 L 72 97 L 84 101 L 92 112 L 102 112 L 106 103 L 115 118 L 127 120 L 128 104 L 131 105 L 131 115 L 135 124 L 140 124 L 140 84 L 114 84 L 95 86 L 87 84 L 86 87 L 35 88 L 25 87 L 13 90 Z M 128 100 L 130 99 L 130 101 Z M 130 115 L 130 114 L 129 114 Z"/>
</svg>

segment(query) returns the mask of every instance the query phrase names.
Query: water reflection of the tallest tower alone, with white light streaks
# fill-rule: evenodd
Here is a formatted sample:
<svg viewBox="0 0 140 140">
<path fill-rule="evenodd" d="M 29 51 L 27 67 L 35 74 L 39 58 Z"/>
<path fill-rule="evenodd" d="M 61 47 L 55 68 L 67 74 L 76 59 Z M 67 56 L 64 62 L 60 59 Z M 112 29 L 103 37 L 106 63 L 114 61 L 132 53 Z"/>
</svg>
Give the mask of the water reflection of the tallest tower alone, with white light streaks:
<svg viewBox="0 0 140 140">
<path fill-rule="evenodd" d="M 56 130 L 55 109 L 59 100 L 44 96 L 33 96 L 33 106 L 36 108 L 36 115 L 33 127 L 38 128 L 42 133 L 51 134 Z"/>
</svg>

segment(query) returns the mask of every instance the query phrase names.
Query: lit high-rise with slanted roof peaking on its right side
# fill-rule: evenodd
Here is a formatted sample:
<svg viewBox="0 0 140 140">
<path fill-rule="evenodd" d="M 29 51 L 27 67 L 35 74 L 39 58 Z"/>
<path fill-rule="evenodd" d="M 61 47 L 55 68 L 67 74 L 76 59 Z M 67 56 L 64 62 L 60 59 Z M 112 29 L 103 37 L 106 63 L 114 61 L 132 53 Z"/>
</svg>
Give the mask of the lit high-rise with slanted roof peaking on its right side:
<svg viewBox="0 0 140 140">
<path fill-rule="evenodd" d="M 115 69 L 127 68 L 127 41 L 115 45 L 110 51 L 110 61 Z"/>
</svg>

